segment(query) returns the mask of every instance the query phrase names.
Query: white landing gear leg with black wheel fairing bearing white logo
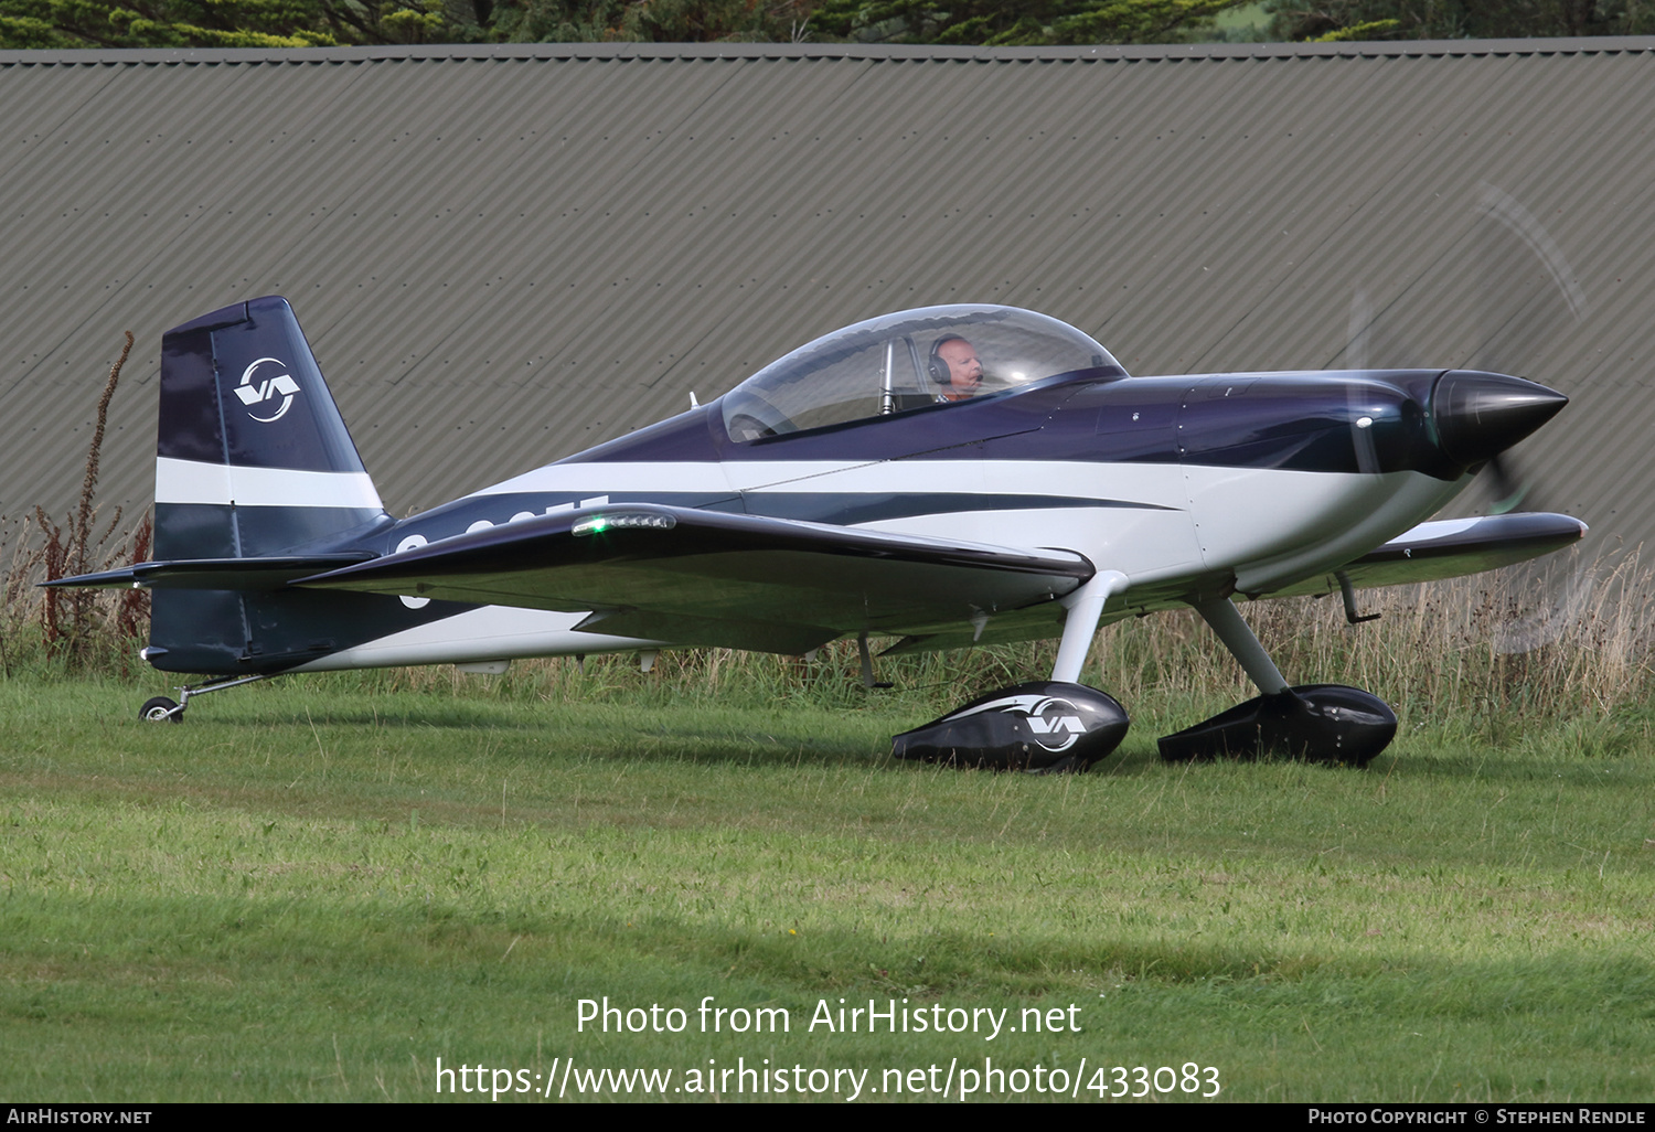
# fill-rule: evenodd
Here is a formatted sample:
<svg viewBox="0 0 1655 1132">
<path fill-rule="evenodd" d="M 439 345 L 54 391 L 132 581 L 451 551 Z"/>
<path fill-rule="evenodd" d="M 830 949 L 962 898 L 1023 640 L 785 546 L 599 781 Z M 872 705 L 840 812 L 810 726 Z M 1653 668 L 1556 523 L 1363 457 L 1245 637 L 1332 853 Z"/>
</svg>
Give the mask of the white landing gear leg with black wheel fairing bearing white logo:
<svg viewBox="0 0 1655 1132">
<path fill-rule="evenodd" d="M 1079 684 L 1086 654 L 1111 594 L 1125 574 L 1107 571 L 1063 601 L 1069 611 L 1051 680 L 990 692 L 925 727 L 892 738 L 897 758 L 1031 775 L 1079 773 L 1109 755 L 1127 733 L 1114 697 Z"/>
</svg>

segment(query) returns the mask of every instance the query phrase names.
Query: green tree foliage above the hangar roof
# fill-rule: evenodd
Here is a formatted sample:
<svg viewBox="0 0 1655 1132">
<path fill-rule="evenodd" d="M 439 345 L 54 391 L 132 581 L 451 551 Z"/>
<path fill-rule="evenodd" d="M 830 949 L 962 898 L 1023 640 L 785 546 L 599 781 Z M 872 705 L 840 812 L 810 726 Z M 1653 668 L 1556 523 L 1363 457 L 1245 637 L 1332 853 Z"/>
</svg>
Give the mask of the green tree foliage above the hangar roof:
<svg viewBox="0 0 1655 1132">
<path fill-rule="evenodd" d="M 0 48 L 1205 38 L 1243 0 L 0 0 Z M 1655 31 L 1643 0 L 1266 0 L 1271 40 Z"/>
</svg>

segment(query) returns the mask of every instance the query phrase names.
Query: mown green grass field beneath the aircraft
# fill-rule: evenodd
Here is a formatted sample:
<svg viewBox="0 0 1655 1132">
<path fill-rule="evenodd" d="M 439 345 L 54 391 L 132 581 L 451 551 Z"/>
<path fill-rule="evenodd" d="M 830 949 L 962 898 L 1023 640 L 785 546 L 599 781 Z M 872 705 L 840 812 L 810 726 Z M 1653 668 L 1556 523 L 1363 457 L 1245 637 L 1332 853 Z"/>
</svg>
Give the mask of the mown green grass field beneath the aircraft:
<svg viewBox="0 0 1655 1132">
<path fill-rule="evenodd" d="M 1221 707 L 1163 693 L 1091 775 L 1024 778 L 889 760 L 952 688 L 773 664 L 295 679 L 179 727 L 134 718 L 152 677 L 0 682 L 0 1096 L 437 1099 L 439 1059 L 501 1101 L 634 1067 L 677 1099 L 1655 1096 L 1635 703 L 1405 713 L 1347 771 L 1162 765 Z M 606 996 L 684 1031 L 579 1028 Z M 707 996 L 789 1029 L 702 1033 Z M 1018 1033 L 809 1026 L 841 998 Z"/>
</svg>

